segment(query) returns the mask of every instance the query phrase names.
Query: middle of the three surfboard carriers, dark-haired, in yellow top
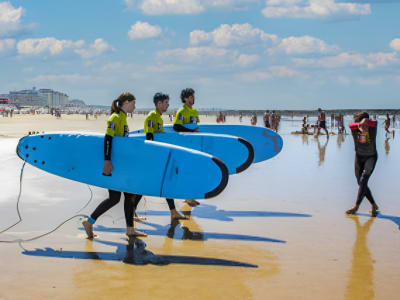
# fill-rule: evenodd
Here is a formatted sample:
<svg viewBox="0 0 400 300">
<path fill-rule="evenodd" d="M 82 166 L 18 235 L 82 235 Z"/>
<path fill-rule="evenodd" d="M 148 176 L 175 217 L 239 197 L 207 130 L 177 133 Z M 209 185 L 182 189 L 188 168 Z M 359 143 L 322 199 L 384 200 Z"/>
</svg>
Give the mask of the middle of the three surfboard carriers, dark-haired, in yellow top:
<svg viewBox="0 0 400 300">
<path fill-rule="evenodd" d="M 156 108 L 151 111 L 144 120 L 144 132 L 146 133 L 146 140 L 151 141 L 154 140 L 154 134 L 164 132 L 164 121 L 161 115 L 168 110 L 169 96 L 162 93 L 156 93 L 153 97 L 153 102 Z M 135 211 L 137 204 L 141 198 L 141 195 L 135 195 Z M 167 203 L 171 212 L 171 221 L 185 219 L 185 217 L 178 213 L 178 211 L 176 210 L 174 199 L 167 198 Z"/>
</svg>

